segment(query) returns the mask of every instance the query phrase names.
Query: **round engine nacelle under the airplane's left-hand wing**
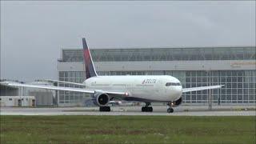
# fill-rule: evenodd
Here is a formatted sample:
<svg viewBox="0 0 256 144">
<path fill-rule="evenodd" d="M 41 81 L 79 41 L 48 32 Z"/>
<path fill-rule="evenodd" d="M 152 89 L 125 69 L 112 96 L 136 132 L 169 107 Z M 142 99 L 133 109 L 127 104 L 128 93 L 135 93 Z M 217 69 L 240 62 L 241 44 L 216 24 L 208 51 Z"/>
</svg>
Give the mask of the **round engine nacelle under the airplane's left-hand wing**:
<svg viewBox="0 0 256 144">
<path fill-rule="evenodd" d="M 101 91 L 95 91 L 93 95 L 93 102 L 97 106 L 107 106 L 110 102 L 110 97 L 106 93 L 102 93 Z"/>
</svg>

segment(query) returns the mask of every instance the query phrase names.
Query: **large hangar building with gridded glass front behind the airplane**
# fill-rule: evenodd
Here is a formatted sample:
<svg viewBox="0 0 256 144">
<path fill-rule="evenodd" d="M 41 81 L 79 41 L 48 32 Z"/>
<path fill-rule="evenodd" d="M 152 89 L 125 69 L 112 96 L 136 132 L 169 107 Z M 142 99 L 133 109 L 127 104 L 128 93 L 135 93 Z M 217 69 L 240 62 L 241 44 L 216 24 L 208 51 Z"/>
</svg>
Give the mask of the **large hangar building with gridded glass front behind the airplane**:
<svg viewBox="0 0 256 144">
<path fill-rule="evenodd" d="M 110 48 L 90 50 L 99 75 L 172 75 L 185 88 L 225 85 L 213 90 L 214 103 L 256 103 L 255 46 Z M 63 49 L 58 59 L 58 79 L 83 82 L 82 49 Z M 70 84 L 59 84 L 71 86 Z M 71 86 L 72 87 L 72 86 Z M 58 106 L 83 105 L 88 95 L 58 92 Z M 182 95 L 187 104 L 207 104 L 207 90 Z"/>
</svg>

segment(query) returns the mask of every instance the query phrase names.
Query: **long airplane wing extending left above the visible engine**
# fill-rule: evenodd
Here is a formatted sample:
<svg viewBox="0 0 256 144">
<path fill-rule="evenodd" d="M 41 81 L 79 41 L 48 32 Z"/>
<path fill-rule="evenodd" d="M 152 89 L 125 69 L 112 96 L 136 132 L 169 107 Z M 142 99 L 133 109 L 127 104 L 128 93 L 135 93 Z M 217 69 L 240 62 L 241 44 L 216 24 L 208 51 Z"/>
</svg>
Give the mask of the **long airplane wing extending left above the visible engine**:
<svg viewBox="0 0 256 144">
<path fill-rule="evenodd" d="M 66 90 L 66 91 L 82 92 L 87 94 L 94 94 L 95 92 L 97 93 L 98 91 L 98 90 L 86 90 L 83 88 L 74 88 L 74 87 L 31 85 L 31 84 L 18 83 L 18 82 L 0 82 L 0 84 L 5 86 L 31 87 L 31 88 L 46 89 L 46 90 Z M 116 97 L 116 98 L 123 98 L 127 94 L 126 92 L 104 91 L 104 90 L 101 90 L 101 91 L 103 93 L 109 94 L 111 97 Z"/>
</svg>

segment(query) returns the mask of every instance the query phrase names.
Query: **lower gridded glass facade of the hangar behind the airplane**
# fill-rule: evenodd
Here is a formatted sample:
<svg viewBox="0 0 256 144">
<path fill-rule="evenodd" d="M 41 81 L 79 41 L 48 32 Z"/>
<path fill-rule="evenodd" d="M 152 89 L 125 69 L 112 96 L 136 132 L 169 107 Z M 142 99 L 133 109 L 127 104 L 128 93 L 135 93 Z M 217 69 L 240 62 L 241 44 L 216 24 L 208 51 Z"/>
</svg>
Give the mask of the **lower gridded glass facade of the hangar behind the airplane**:
<svg viewBox="0 0 256 144">
<path fill-rule="evenodd" d="M 256 70 L 191 70 L 191 71 L 98 71 L 99 75 L 171 75 L 178 78 L 182 87 L 225 85 L 222 89 L 212 90 L 214 103 L 255 103 L 256 102 Z M 83 71 L 60 71 L 61 81 L 83 82 Z M 64 86 L 64 85 L 62 85 Z M 65 86 L 72 86 L 65 84 Z M 72 86 L 74 87 L 74 86 Z M 59 94 L 60 103 L 78 103 L 86 94 L 63 92 Z M 182 95 L 186 103 L 207 103 L 208 91 L 188 92 Z"/>
</svg>

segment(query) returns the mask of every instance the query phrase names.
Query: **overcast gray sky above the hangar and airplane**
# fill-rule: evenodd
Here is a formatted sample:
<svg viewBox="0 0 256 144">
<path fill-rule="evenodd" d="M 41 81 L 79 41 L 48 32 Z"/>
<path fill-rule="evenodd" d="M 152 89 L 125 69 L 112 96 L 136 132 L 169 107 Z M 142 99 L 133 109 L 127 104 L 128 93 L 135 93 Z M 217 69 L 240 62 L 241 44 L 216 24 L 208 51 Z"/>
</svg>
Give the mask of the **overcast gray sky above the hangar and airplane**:
<svg viewBox="0 0 256 144">
<path fill-rule="evenodd" d="M 62 48 L 255 46 L 255 2 L 2 2 L 1 78 L 57 79 Z"/>
</svg>

